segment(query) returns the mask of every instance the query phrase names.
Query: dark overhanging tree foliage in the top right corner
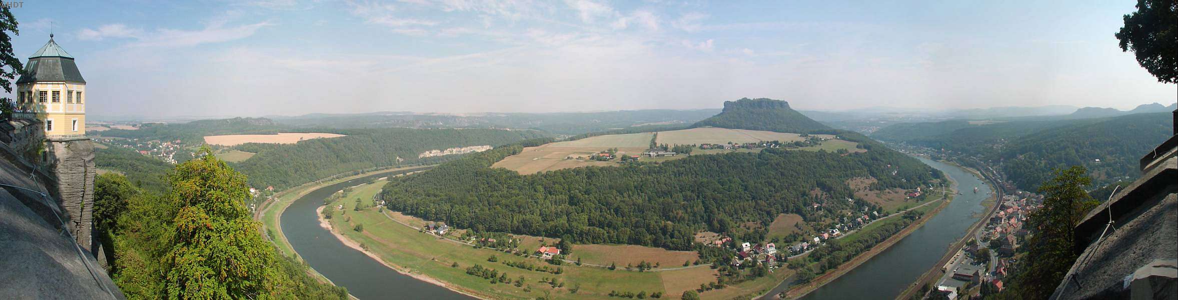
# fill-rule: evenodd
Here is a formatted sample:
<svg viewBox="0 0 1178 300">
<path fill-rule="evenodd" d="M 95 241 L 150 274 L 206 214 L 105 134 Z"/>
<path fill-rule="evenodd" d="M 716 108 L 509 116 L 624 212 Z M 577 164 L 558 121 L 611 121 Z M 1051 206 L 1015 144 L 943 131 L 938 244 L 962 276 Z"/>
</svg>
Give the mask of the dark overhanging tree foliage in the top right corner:
<svg viewBox="0 0 1178 300">
<path fill-rule="evenodd" d="M 1174 0 L 1138 0 L 1137 12 L 1125 15 L 1116 34 L 1121 51 L 1133 51 L 1137 62 L 1158 81 L 1178 82 L 1178 4 Z"/>
</svg>

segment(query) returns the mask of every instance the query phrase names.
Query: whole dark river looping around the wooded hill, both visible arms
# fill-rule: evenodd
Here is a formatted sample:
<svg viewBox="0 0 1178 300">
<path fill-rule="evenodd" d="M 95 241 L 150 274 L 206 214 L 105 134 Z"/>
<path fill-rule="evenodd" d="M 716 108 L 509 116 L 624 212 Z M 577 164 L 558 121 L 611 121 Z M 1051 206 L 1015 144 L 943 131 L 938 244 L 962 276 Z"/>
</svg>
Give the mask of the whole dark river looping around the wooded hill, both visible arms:
<svg viewBox="0 0 1178 300">
<path fill-rule="evenodd" d="M 965 236 L 978 221 L 981 201 L 991 194 L 985 181 L 959 167 L 924 158 L 920 161 L 940 169 L 958 184 L 958 195 L 933 219 L 888 249 L 865 261 L 839 279 L 807 294 L 806 300 L 822 299 L 893 299 L 921 274 L 933 267 L 951 244 Z M 282 215 L 283 233 L 317 272 L 356 298 L 369 299 L 471 299 L 441 286 L 397 273 L 379 261 L 344 246 L 327 229 L 319 227 L 316 208 L 336 191 L 416 169 L 373 174 L 323 187 L 294 200 Z M 978 193 L 973 193 L 978 187 Z M 788 287 L 782 284 L 769 295 Z"/>
</svg>

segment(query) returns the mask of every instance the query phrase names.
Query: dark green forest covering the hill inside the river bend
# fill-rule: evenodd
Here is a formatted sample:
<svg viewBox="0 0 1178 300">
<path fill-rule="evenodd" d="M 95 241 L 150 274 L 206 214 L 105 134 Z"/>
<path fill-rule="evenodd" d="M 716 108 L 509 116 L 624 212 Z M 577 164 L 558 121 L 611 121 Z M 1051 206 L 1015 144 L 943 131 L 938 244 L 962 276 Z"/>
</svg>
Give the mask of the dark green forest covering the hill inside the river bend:
<svg viewBox="0 0 1178 300">
<path fill-rule="evenodd" d="M 729 105 L 726 111 L 757 118 L 792 112 L 788 106 L 776 104 Z M 760 121 L 756 118 L 729 118 L 734 114 L 712 124 L 777 131 L 816 124 L 800 116 L 805 120 L 770 121 L 763 126 L 755 124 Z M 472 154 L 422 174 L 393 179 L 380 196 L 390 209 L 459 228 L 563 238 L 581 244 L 690 249 L 693 235 L 699 231 L 730 234 L 744 222 L 767 226 L 781 213 L 812 214 L 814 204 L 825 204 L 819 209 L 829 212 L 878 209 L 865 201 L 841 200 L 853 198 L 846 184 L 851 178 L 875 178 L 873 187 L 880 189 L 915 188 L 941 178 L 937 169 L 863 135 L 821 128 L 860 142 L 869 151 L 843 155 L 766 148 L 760 153 L 691 155 L 661 164 L 580 167 L 530 175 L 490 167 L 525 146 L 538 145 L 530 142 Z M 742 240 L 763 238 L 763 231 L 741 236 Z"/>
</svg>

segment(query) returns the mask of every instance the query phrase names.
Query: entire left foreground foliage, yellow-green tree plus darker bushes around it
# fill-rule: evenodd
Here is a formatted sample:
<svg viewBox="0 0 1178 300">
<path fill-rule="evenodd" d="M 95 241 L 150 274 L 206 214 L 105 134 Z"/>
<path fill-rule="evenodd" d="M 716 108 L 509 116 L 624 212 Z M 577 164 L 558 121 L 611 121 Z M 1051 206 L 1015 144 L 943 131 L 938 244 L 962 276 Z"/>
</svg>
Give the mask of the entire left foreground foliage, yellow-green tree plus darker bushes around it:
<svg viewBox="0 0 1178 300">
<path fill-rule="evenodd" d="M 245 176 L 211 152 L 177 166 L 170 192 L 117 174 L 95 182 L 95 221 L 112 279 L 131 299 L 346 299 L 277 254 L 244 201 Z M 114 220 L 114 221 L 112 221 Z"/>
</svg>

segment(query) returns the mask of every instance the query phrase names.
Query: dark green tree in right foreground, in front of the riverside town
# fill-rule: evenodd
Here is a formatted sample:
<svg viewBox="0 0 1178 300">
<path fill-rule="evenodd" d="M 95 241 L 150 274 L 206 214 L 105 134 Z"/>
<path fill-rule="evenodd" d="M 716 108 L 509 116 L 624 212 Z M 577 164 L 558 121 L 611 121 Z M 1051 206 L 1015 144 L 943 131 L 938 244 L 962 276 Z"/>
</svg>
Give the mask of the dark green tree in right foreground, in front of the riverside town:
<svg viewBox="0 0 1178 300">
<path fill-rule="evenodd" d="M 1076 262 L 1072 228 L 1097 206 L 1085 187 L 1092 182 L 1080 166 L 1054 171 L 1054 178 L 1039 187 L 1043 208 L 1031 213 L 1027 226 L 1027 256 L 1020 260 L 1015 282 L 1030 299 L 1047 299 Z"/>
</svg>

